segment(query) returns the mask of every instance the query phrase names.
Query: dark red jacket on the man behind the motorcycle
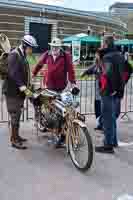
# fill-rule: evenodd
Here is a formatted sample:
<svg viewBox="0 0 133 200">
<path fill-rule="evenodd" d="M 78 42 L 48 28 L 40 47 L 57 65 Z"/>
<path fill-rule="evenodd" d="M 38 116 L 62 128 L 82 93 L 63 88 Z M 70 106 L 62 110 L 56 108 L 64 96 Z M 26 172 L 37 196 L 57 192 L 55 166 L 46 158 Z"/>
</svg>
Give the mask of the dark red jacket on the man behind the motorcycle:
<svg viewBox="0 0 133 200">
<path fill-rule="evenodd" d="M 67 86 L 67 79 L 71 83 L 75 83 L 75 70 L 70 54 L 61 51 L 60 55 L 54 61 L 51 52 L 45 52 L 41 56 L 38 64 L 35 66 L 33 76 L 37 75 L 44 64 L 47 65 L 47 73 L 45 73 L 46 77 L 44 77 L 47 88 L 53 90 L 63 90 Z M 68 78 L 65 70 L 68 72 Z"/>
</svg>

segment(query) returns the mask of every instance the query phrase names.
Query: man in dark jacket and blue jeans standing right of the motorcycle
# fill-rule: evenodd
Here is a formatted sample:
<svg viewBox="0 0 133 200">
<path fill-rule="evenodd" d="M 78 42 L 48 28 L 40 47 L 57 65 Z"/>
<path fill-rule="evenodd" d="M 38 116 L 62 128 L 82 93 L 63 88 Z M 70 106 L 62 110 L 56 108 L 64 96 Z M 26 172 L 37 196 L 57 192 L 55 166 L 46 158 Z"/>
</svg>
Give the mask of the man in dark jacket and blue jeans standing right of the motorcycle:
<svg viewBox="0 0 133 200">
<path fill-rule="evenodd" d="M 114 47 L 112 36 L 104 37 L 103 48 L 99 50 L 100 91 L 104 126 L 104 145 L 95 148 L 96 152 L 114 153 L 118 146 L 116 119 L 120 114 L 121 98 L 129 74 L 124 56 Z"/>
</svg>

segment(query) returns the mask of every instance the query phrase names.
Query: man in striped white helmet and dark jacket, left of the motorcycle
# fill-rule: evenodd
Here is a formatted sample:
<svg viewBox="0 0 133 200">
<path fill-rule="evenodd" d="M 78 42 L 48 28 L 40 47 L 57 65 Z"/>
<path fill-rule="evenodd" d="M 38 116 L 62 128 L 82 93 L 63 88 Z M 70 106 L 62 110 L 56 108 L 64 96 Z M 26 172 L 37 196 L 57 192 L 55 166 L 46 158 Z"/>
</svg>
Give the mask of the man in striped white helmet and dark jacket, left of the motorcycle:
<svg viewBox="0 0 133 200">
<path fill-rule="evenodd" d="M 8 77 L 4 82 L 3 91 L 6 96 L 8 113 L 11 117 L 12 147 L 26 149 L 25 138 L 19 136 L 21 111 L 25 97 L 31 97 L 30 68 L 26 60 L 27 54 L 37 47 L 37 42 L 31 35 L 25 35 L 21 45 L 11 51 L 8 56 Z"/>
</svg>

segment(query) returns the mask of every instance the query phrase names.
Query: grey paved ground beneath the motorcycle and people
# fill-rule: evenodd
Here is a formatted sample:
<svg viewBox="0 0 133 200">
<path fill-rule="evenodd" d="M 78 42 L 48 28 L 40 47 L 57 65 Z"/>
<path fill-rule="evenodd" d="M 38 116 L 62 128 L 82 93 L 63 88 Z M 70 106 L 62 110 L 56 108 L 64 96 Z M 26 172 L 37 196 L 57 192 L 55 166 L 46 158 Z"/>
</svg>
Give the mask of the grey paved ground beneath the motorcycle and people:
<svg viewBox="0 0 133 200">
<path fill-rule="evenodd" d="M 93 142 L 100 143 L 102 135 L 94 133 L 93 117 L 88 119 Z M 38 140 L 32 122 L 22 124 L 21 134 L 29 138 L 25 151 L 12 149 L 7 125 L 0 126 L 0 200 L 117 200 L 133 195 L 132 121 L 119 122 L 122 143 L 115 155 L 95 154 L 86 174 L 75 169 L 63 150 Z"/>
</svg>

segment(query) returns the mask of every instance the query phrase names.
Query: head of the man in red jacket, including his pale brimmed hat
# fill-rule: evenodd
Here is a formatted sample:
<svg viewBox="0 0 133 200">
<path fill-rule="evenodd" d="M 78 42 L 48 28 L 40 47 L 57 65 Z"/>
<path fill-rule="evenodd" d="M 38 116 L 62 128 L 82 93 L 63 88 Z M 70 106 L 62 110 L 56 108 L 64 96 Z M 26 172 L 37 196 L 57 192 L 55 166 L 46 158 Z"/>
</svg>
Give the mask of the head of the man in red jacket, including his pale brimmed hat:
<svg viewBox="0 0 133 200">
<path fill-rule="evenodd" d="M 59 38 L 54 38 L 49 45 L 51 47 L 52 55 L 58 56 L 62 47 L 61 40 Z"/>
</svg>

